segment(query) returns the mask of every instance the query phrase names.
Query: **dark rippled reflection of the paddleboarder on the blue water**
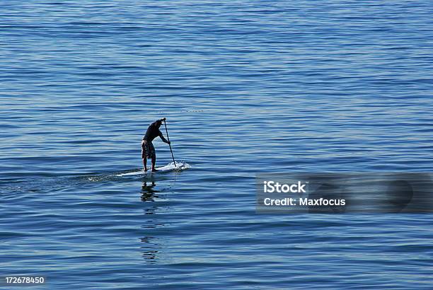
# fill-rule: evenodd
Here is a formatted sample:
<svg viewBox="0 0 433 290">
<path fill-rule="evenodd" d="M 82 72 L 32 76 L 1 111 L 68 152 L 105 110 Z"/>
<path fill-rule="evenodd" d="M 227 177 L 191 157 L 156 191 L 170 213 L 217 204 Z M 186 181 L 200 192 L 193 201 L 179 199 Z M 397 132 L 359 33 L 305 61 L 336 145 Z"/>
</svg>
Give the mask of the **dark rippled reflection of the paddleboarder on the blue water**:
<svg viewBox="0 0 433 290">
<path fill-rule="evenodd" d="M 155 202 L 155 199 L 158 198 L 159 191 L 154 189 L 155 186 L 156 184 L 154 180 L 146 181 L 143 182 L 142 190 L 140 191 L 140 199 L 142 199 L 143 202 L 151 202 L 149 203 L 151 206 L 144 209 L 144 214 L 151 214 L 151 216 L 149 216 L 150 219 L 146 219 L 145 224 L 142 226 L 146 236 L 140 238 L 142 242 L 140 247 L 142 256 L 146 262 L 150 263 L 158 261 L 158 253 L 160 252 L 161 245 L 157 243 L 157 238 L 150 236 L 149 234 L 154 231 L 154 228 L 163 226 L 163 224 L 158 223 L 156 220 L 157 215 L 155 214 L 155 211 L 158 207 L 156 207 L 157 203 Z"/>
</svg>

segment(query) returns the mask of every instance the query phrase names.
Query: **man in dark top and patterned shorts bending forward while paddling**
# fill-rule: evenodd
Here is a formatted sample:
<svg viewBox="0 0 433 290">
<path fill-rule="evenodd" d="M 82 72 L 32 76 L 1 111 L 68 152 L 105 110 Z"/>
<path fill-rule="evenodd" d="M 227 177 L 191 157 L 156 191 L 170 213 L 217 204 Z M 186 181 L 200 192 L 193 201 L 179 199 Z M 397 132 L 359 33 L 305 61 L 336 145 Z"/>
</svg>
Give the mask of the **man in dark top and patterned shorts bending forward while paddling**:
<svg viewBox="0 0 433 290">
<path fill-rule="evenodd" d="M 142 158 L 143 158 L 143 165 L 144 165 L 144 171 L 147 171 L 147 159 L 151 159 L 152 161 L 152 171 L 158 171 L 155 169 L 155 163 L 156 163 L 156 154 L 155 154 L 155 147 L 154 144 L 152 144 L 152 141 L 156 137 L 161 137 L 162 141 L 166 142 L 167 144 L 170 144 L 170 141 L 167 141 L 166 138 L 163 137 L 162 132 L 159 130 L 159 127 L 161 127 L 161 124 L 163 121 L 165 121 L 166 118 L 162 118 L 161 120 L 156 120 L 152 124 L 149 125 L 149 128 L 147 128 L 146 134 L 144 134 L 143 140 L 142 140 Z"/>
</svg>

